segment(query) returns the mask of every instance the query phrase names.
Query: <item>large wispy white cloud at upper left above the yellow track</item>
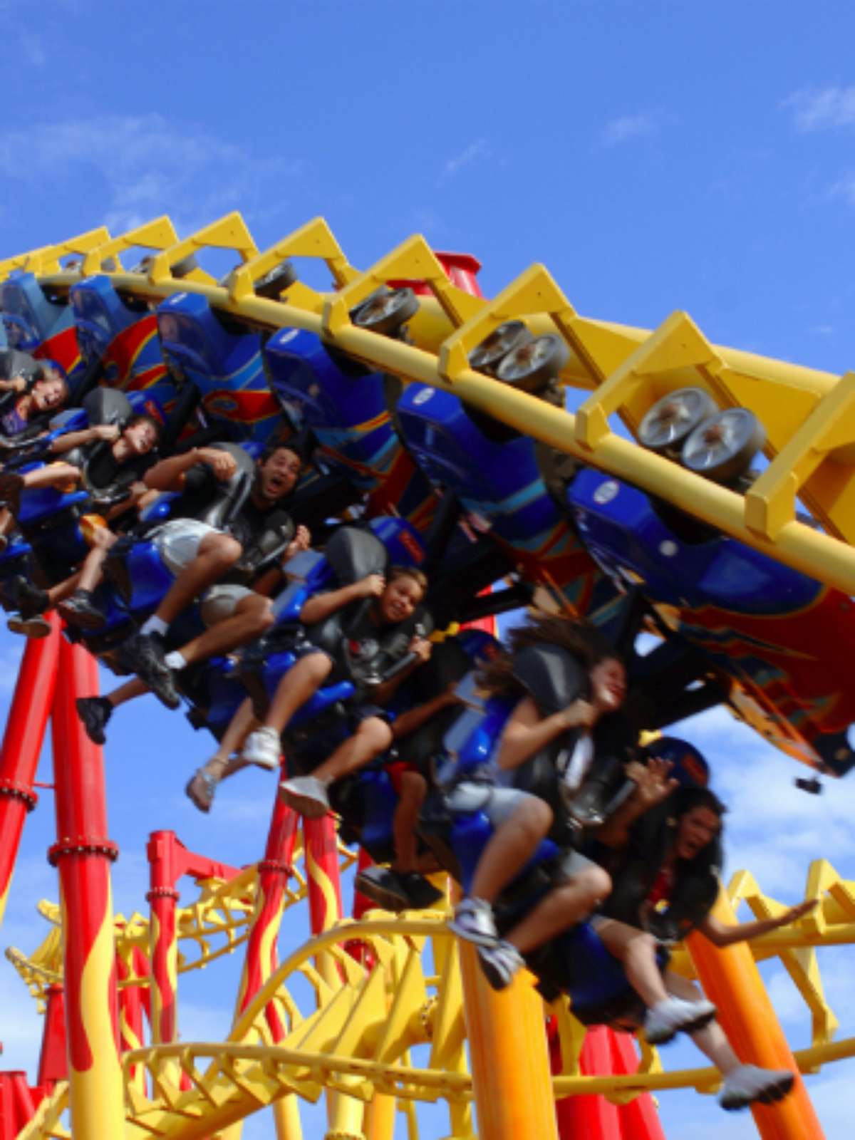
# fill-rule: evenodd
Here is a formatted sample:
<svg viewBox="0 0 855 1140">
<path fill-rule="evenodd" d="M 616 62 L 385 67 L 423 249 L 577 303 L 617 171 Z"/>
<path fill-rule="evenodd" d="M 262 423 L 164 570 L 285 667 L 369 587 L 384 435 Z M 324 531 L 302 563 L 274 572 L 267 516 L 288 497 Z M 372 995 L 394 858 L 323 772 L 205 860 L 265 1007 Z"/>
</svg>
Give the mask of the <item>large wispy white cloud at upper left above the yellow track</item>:
<svg viewBox="0 0 855 1140">
<path fill-rule="evenodd" d="M 24 153 L 27 162 L 16 161 Z M 85 179 L 90 199 L 103 188 L 103 213 L 120 231 L 162 213 L 193 230 L 229 210 L 249 213 L 269 204 L 274 193 L 283 205 L 283 188 L 303 170 L 299 160 L 255 155 L 160 114 L 107 114 L 2 131 L 0 163 L 9 177 L 33 182 L 55 178 L 58 170 L 66 181 Z"/>
</svg>

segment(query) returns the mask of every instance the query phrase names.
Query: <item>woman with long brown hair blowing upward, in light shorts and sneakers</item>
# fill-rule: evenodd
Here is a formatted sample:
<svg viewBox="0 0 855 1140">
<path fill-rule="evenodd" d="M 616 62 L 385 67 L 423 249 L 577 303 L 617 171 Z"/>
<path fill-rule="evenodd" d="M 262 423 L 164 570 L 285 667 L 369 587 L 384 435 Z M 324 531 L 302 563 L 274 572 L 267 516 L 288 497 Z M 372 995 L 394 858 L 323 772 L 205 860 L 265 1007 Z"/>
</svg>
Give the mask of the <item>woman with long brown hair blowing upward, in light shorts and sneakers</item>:
<svg viewBox="0 0 855 1140">
<path fill-rule="evenodd" d="M 530 686 L 531 669 L 516 674 L 528 650 L 547 645 L 547 670 L 557 670 L 564 705 L 552 709 Z M 499 939 L 492 904 L 523 870 L 539 844 L 564 815 L 595 762 L 593 730 L 614 712 L 626 692 L 626 674 L 614 649 L 587 622 L 542 617 L 512 632 L 511 653 L 482 670 L 484 689 L 516 697 L 491 763 L 464 779 L 447 797 L 453 813 L 482 811 L 495 831 L 478 861 L 470 894 L 458 904 L 451 929 L 475 943 L 481 967 L 495 988 L 506 986 L 522 966 L 522 955 L 579 922 L 611 888 L 608 873 L 578 850 L 562 863 L 562 881 Z M 530 654 L 529 654 L 530 656 Z M 543 661 L 534 662 L 537 670 Z M 526 771 L 528 766 L 528 771 Z M 531 776 L 519 784 L 522 774 Z M 516 784 L 516 785 L 515 785 Z M 567 828 L 562 828 L 567 844 Z"/>
</svg>

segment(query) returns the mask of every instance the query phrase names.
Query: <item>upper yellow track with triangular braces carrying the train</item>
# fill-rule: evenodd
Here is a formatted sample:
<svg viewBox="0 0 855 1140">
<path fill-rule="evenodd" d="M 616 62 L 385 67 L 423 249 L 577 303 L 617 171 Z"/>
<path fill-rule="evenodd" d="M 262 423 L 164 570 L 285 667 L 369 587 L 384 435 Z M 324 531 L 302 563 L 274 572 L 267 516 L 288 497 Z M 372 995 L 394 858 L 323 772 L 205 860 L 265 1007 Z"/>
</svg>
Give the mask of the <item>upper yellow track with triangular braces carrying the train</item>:
<svg viewBox="0 0 855 1140">
<path fill-rule="evenodd" d="M 57 290 L 80 280 L 97 263 L 112 266 L 119 249 L 157 249 L 169 219 L 120 238 L 106 230 L 0 261 L 0 280 L 30 268 Z M 96 236 L 93 236 L 96 235 Z M 100 235 L 100 242 L 97 235 Z M 233 249 L 241 259 L 225 285 L 203 270 L 176 279 L 171 267 L 188 253 Z M 82 253 L 68 270 L 60 259 Z M 320 294 L 298 282 L 279 301 L 254 296 L 252 280 L 284 256 L 325 261 L 337 293 Z M 674 503 L 725 534 L 846 593 L 855 593 L 855 380 L 710 344 L 686 314 L 653 333 L 579 316 L 543 266 L 532 266 L 491 301 L 450 285 L 424 238 L 415 236 L 366 272 L 348 262 L 323 219 L 315 219 L 269 250 L 259 251 L 238 213 L 228 214 L 155 253 L 148 275 L 107 276 L 135 296 L 158 301 L 176 292 L 199 293 L 219 309 L 260 328 L 299 327 L 319 333 L 349 355 L 406 381 L 453 390 L 467 402 L 559 450 L 575 455 Z M 57 271 L 60 270 L 60 271 Z M 373 288 L 400 278 L 427 280 L 410 321 L 413 344 L 350 323 L 349 307 Z M 502 321 L 522 318 L 535 332 L 557 332 L 570 347 L 565 384 L 591 390 L 577 416 L 473 372 L 467 353 Z M 634 429 L 663 393 L 686 384 L 706 388 L 720 405 L 754 410 L 768 438 L 769 466 L 747 492 L 718 487 L 679 464 L 645 451 L 611 430 L 619 415 Z M 806 503 L 825 532 L 795 516 Z"/>
</svg>

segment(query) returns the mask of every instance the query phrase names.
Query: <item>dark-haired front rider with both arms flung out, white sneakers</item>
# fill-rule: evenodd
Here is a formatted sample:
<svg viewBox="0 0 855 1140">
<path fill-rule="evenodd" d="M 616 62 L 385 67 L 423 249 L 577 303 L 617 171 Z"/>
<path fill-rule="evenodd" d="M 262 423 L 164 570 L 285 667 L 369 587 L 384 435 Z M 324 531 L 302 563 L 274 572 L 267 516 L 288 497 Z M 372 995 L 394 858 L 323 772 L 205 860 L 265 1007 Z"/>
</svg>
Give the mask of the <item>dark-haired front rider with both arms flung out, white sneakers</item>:
<svg viewBox="0 0 855 1140">
<path fill-rule="evenodd" d="M 650 760 L 646 773 L 636 773 L 636 793 L 622 817 L 616 815 L 597 833 L 598 842 L 616 857 L 612 893 L 592 926 L 644 1003 L 648 1041 L 665 1044 L 676 1033 L 687 1033 L 724 1077 L 723 1108 L 769 1104 L 787 1096 L 793 1074 L 741 1064 L 715 1019 L 712 1003 L 693 983 L 660 967 L 661 947 L 692 929 L 716 946 L 757 938 L 797 921 L 816 899 L 791 906 L 777 918 L 735 926 L 710 914 L 719 889 L 719 838 L 726 808 L 708 788 L 675 790 L 668 768 Z"/>
</svg>

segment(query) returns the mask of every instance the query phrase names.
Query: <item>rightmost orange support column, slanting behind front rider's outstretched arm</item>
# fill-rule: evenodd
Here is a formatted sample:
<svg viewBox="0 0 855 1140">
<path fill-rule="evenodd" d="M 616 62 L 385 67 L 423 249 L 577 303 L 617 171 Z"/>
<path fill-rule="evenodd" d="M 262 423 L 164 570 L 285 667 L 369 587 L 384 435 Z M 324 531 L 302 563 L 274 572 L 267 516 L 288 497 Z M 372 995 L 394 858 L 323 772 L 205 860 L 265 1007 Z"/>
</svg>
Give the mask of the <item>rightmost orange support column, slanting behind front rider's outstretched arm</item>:
<svg viewBox="0 0 855 1140">
<path fill-rule="evenodd" d="M 722 922 L 736 921 L 724 891 L 719 891 L 712 914 Z M 698 934 L 687 939 L 686 946 L 701 985 L 717 1005 L 718 1020 L 740 1060 L 796 1073 L 796 1086 L 789 1097 L 777 1105 L 751 1108 L 763 1140 L 822 1140 L 822 1126 L 751 951 L 744 943 L 719 950 Z"/>
</svg>

